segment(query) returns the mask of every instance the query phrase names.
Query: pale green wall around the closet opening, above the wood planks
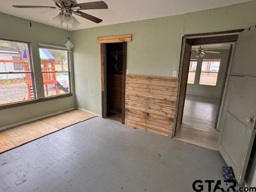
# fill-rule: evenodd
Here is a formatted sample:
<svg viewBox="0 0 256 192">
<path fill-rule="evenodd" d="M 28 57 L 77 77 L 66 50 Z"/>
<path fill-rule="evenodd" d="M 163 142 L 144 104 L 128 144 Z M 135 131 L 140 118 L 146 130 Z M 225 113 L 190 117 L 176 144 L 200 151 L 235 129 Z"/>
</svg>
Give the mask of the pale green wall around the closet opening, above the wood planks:
<svg viewBox="0 0 256 192">
<path fill-rule="evenodd" d="M 99 36 L 132 34 L 127 47 L 130 74 L 172 76 L 178 70 L 182 36 L 248 28 L 256 22 L 256 1 L 71 33 L 75 64 L 76 106 L 101 114 Z"/>
</svg>

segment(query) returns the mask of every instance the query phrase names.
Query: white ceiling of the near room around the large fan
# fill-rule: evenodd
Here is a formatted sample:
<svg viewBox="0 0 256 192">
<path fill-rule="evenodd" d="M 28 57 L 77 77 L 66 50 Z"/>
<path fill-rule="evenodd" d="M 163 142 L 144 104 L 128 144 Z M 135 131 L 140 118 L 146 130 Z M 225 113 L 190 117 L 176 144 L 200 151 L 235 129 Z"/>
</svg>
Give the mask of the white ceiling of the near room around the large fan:
<svg viewBox="0 0 256 192">
<path fill-rule="evenodd" d="M 91 2 L 97 0 L 77 0 L 78 3 Z M 88 21 L 80 16 L 76 18 L 81 22 L 77 28 L 70 30 L 79 30 L 84 28 L 92 28 L 96 26 L 104 26 L 110 24 L 124 23 L 130 21 L 144 20 L 150 18 L 158 18 L 164 16 L 184 14 L 195 12 L 231 4 L 248 2 L 250 0 L 104 0 L 108 4 L 106 10 L 84 10 L 84 12 L 101 18 L 100 24 Z M 37 5 L 37 6 L 54 6 L 52 0 L 2 0 L 0 12 L 25 18 L 28 20 L 48 24 L 59 28 L 66 26 L 58 26 L 52 20 L 59 11 L 54 9 L 36 9 L 13 8 L 12 5 Z"/>
</svg>

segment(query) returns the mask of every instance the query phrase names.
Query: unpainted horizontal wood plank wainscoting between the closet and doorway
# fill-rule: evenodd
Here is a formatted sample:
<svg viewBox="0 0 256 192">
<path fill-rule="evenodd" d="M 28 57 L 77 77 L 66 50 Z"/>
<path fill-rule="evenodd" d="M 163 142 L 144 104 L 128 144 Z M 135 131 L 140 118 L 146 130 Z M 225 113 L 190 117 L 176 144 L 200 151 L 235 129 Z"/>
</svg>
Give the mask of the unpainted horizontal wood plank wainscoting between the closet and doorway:
<svg viewBox="0 0 256 192">
<path fill-rule="evenodd" d="M 171 137 L 178 78 L 126 75 L 125 124 Z"/>
</svg>

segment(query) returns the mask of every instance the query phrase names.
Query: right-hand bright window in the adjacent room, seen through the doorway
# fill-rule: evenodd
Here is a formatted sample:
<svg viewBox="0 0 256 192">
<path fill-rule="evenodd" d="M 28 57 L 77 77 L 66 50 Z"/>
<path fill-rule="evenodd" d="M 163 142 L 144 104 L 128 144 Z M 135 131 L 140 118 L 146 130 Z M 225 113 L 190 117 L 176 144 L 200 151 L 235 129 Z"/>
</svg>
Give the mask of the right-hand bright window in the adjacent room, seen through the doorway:
<svg viewBox="0 0 256 192">
<path fill-rule="evenodd" d="M 216 86 L 220 68 L 220 59 L 203 59 L 200 85 Z"/>
</svg>

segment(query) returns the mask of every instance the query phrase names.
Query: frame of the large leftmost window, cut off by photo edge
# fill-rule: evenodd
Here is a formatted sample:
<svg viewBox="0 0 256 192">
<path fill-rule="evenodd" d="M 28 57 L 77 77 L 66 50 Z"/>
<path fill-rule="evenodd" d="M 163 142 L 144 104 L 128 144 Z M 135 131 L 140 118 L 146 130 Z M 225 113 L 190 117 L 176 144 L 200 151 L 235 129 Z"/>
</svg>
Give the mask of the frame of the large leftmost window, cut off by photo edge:
<svg viewBox="0 0 256 192">
<path fill-rule="evenodd" d="M 34 102 L 37 99 L 37 92 L 36 92 L 36 79 L 35 79 L 35 74 L 34 74 L 34 64 L 32 60 L 32 49 L 31 49 L 31 43 L 30 42 L 25 42 L 25 41 L 18 41 L 18 40 L 9 40 L 9 39 L 0 39 L 3 41 L 10 41 L 10 42 L 17 42 L 17 43 L 22 43 L 22 44 L 27 44 L 28 46 L 28 54 L 29 54 L 29 64 L 30 64 L 30 72 L 28 71 L 17 71 L 15 70 L 13 72 L 0 72 L 0 74 L 30 74 L 31 75 L 31 80 L 32 80 L 32 87 L 33 87 L 33 99 L 29 100 L 24 100 L 24 101 L 17 101 L 17 102 L 11 102 L 11 103 L 6 103 L 6 104 L 0 104 L 0 110 L 5 109 L 5 108 L 11 108 L 12 106 L 19 106 L 20 104 L 23 105 L 24 103 L 27 102 Z"/>
</svg>

